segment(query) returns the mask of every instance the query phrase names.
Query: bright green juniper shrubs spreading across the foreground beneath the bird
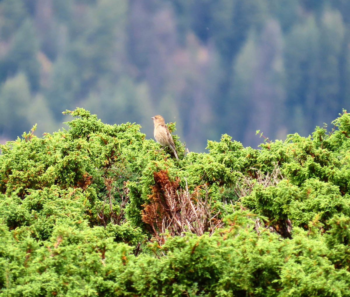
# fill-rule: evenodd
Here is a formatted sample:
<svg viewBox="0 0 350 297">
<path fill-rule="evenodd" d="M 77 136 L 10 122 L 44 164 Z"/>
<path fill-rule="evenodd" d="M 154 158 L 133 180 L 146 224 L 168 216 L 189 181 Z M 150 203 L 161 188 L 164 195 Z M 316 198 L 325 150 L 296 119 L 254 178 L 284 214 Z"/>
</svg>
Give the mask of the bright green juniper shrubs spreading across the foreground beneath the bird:
<svg viewBox="0 0 350 297">
<path fill-rule="evenodd" d="M 350 114 L 180 161 L 82 108 L 1 146 L 0 296 L 350 296 Z M 175 124 L 169 124 L 174 131 Z"/>
</svg>

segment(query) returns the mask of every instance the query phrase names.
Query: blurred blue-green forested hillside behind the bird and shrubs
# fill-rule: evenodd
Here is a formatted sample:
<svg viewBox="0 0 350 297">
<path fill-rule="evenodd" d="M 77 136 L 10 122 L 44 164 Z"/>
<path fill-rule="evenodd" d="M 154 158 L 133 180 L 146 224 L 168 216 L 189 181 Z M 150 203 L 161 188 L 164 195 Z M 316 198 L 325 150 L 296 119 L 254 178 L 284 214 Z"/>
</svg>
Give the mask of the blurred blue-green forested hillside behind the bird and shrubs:
<svg viewBox="0 0 350 297">
<path fill-rule="evenodd" d="M 190 151 L 310 134 L 350 102 L 349 0 L 1 0 L 0 139 L 65 109 L 176 121 Z"/>
</svg>

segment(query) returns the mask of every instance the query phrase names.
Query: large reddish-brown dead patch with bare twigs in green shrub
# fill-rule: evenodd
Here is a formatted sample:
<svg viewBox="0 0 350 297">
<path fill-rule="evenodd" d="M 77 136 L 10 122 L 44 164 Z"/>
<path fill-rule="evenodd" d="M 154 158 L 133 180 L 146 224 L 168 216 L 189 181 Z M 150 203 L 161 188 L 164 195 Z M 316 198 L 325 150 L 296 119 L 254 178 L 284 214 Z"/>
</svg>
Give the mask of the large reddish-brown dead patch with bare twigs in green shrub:
<svg viewBox="0 0 350 297">
<path fill-rule="evenodd" d="M 159 243 L 164 241 L 166 232 L 171 236 L 188 231 L 197 235 L 204 232 L 211 234 L 223 225 L 221 219 L 217 219 L 219 213 L 211 211 L 205 185 L 197 186 L 190 194 L 187 184 L 186 189 L 181 189 L 180 179 L 170 181 L 166 170 L 154 172 L 153 176 L 155 184 L 152 195 L 148 196 L 149 204 L 143 205 L 142 220 L 151 226 Z M 205 190 L 204 197 L 202 188 Z"/>
</svg>

